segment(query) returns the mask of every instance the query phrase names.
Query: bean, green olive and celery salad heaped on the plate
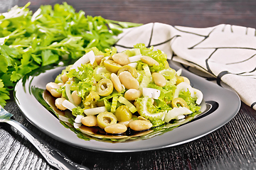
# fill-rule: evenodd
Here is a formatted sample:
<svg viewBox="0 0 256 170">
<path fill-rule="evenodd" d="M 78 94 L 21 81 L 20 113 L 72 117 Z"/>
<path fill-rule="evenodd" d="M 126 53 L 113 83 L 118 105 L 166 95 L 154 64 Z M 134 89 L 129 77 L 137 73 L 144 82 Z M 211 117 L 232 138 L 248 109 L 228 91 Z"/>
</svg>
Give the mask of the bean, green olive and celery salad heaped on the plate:
<svg viewBox="0 0 256 170">
<path fill-rule="evenodd" d="M 164 52 L 142 43 L 123 52 L 92 47 L 46 89 L 58 110 L 72 113 L 60 120 L 90 137 L 121 142 L 176 128 L 201 113 L 203 101 Z"/>
</svg>

